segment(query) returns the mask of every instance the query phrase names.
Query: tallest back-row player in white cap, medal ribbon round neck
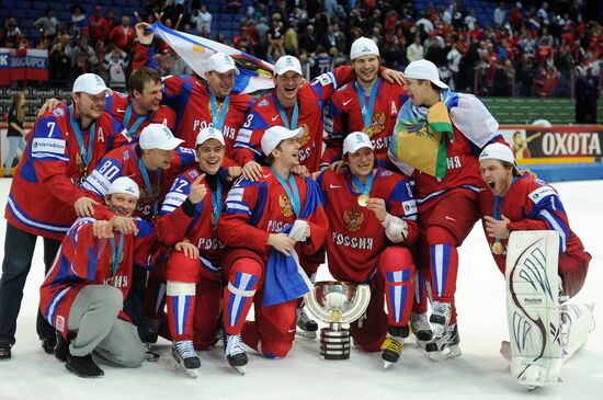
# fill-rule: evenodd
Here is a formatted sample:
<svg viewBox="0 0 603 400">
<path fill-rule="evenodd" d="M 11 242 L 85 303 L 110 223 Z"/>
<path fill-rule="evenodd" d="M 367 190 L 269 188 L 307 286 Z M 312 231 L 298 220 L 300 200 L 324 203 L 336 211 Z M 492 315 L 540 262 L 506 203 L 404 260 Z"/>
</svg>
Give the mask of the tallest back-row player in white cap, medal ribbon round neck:
<svg viewBox="0 0 603 400">
<path fill-rule="evenodd" d="M 339 161 L 343 139 L 352 132 L 364 132 L 375 147 L 378 160 L 387 160 L 387 148 L 396 116 L 407 99 L 403 85 L 378 77 L 379 48 L 372 39 L 360 37 L 350 50 L 355 80 L 331 96 L 329 116 L 325 124 L 327 148 L 322 167 Z"/>
</svg>

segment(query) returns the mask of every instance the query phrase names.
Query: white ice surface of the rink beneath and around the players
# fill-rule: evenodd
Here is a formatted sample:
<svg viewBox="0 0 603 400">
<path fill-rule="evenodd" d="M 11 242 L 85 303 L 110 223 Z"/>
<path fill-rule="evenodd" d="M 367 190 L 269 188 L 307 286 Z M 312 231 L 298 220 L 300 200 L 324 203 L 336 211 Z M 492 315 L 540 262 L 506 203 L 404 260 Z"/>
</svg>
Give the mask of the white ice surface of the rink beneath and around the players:
<svg viewBox="0 0 603 400">
<path fill-rule="evenodd" d="M 0 205 L 11 180 L 0 180 Z M 573 302 L 596 302 L 600 327 L 584 348 L 561 370 L 562 384 L 526 392 L 514 382 L 509 363 L 499 354 L 508 338 L 503 276 L 497 270 L 481 227 L 460 248 L 457 309 L 459 358 L 434 363 L 411 341 L 400 362 L 384 370 L 378 353 L 352 350 L 349 361 L 321 361 L 318 341 L 296 340 L 285 359 L 264 359 L 252 351 L 247 375 L 231 372 L 221 344 L 202 353 L 197 379 L 174 369 L 167 341 L 161 359 L 138 369 L 102 365 L 105 376 L 87 380 L 69 374 L 45 354 L 35 333 L 38 286 L 43 278 L 42 242 L 27 279 L 19 317 L 13 358 L 0 363 L 0 399 L 601 399 L 603 393 L 603 181 L 554 184 L 568 210 L 570 225 L 593 255 L 587 283 Z M 52 213 L 52 210 L 48 210 Z M 4 241 L 5 220 L 0 222 Z M 2 251 L 3 254 L 3 251 Z M 3 258 L 3 255 L 2 255 Z M 327 278 L 326 266 L 319 279 Z"/>
</svg>

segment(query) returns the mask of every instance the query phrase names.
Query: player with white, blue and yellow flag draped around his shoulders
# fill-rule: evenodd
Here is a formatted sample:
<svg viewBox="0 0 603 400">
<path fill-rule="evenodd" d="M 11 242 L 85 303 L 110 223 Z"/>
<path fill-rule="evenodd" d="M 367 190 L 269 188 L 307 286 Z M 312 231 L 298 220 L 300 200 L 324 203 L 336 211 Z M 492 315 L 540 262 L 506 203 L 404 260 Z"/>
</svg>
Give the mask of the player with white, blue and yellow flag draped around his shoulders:
<svg viewBox="0 0 603 400">
<path fill-rule="evenodd" d="M 436 361 L 460 355 L 454 308 L 457 247 L 479 218 L 479 150 L 502 137 L 483 104 L 474 95 L 451 92 L 433 62 L 409 64 L 405 79 L 410 99 L 398 115 L 388 155 L 416 181 L 420 235 L 414 261 L 419 270 L 431 272 L 430 321 L 435 339 L 426 351 Z M 403 138 L 426 144 L 408 145 Z"/>
</svg>

